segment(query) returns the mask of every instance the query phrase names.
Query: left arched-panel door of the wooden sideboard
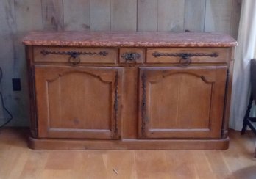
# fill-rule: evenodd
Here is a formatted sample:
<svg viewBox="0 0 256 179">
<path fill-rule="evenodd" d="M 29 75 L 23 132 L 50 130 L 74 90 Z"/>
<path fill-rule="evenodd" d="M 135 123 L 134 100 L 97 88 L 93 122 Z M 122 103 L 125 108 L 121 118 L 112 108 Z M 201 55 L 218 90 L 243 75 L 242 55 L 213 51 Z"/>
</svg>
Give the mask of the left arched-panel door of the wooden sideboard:
<svg viewBox="0 0 256 179">
<path fill-rule="evenodd" d="M 119 139 L 122 69 L 35 66 L 38 136 Z"/>
</svg>

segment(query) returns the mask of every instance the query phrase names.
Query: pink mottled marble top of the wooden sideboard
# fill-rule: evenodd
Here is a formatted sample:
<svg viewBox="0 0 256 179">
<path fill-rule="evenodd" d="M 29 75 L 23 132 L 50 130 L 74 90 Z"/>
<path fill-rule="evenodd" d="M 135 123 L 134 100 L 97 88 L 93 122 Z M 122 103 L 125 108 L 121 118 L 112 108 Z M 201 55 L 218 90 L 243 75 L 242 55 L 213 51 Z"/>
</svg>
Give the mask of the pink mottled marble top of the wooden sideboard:
<svg viewBox="0 0 256 179">
<path fill-rule="evenodd" d="M 25 45 L 93 47 L 231 47 L 236 41 L 221 33 L 173 32 L 31 32 Z"/>
</svg>

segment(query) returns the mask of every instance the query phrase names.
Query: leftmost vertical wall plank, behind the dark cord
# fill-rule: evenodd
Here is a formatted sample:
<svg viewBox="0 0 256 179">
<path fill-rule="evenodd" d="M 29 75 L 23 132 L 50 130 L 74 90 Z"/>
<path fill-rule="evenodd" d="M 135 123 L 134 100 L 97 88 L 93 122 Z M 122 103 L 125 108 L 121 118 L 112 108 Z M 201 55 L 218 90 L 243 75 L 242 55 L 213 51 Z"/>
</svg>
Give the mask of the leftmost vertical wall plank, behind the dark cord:
<svg viewBox="0 0 256 179">
<path fill-rule="evenodd" d="M 12 81 L 14 64 L 14 40 L 15 37 L 15 9 L 14 1 L 0 1 L 0 67 L 3 73 L 1 79 L 1 93 L 4 95 L 4 103 L 10 112 L 15 112 Z M 1 106 L 0 106 L 1 107 Z M 4 123 L 7 114 L 0 109 L 0 123 Z"/>
</svg>

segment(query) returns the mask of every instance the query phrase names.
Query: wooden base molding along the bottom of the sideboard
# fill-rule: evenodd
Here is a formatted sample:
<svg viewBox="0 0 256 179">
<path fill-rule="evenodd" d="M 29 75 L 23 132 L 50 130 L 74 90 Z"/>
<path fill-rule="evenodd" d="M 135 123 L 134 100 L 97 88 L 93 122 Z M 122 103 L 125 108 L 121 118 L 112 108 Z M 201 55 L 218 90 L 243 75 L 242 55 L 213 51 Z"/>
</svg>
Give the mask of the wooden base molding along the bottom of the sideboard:
<svg viewBox="0 0 256 179">
<path fill-rule="evenodd" d="M 29 138 L 32 149 L 50 150 L 227 150 L 230 139 L 76 140 Z"/>
</svg>

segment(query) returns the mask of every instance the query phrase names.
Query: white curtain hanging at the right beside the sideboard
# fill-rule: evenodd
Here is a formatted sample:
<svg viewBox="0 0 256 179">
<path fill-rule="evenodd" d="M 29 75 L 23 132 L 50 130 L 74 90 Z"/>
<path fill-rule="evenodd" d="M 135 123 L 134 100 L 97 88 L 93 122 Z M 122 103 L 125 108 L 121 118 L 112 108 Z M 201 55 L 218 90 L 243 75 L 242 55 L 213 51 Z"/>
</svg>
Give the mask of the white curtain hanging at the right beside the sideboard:
<svg viewBox="0 0 256 179">
<path fill-rule="evenodd" d="M 230 108 L 230 128 L 241 130 L 249 101 L 250 59 L 256 57 L 256 1 L 243 0 L 235 50 L 235 65 Z"/>
</svg>

